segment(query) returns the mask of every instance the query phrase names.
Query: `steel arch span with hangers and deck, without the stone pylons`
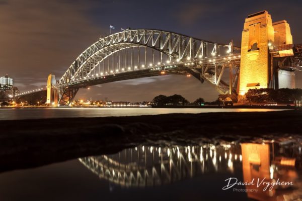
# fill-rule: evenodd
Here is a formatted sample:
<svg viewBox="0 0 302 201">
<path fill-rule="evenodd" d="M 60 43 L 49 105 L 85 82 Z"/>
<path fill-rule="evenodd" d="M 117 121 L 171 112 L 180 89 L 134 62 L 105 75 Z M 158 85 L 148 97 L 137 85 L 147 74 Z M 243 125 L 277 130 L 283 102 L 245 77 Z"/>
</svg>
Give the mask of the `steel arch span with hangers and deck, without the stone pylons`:
<svg viewBox="0 0 302 201">
<path fill-rule="evenodd" d="M 79 88 L 166 74 L 163 70 L 169 74 L 197 73 L 194 77 L 212 83 L 213 80 L 199 75 L 202 73 L 200 65 L 200 70 L 193 72 L 185 64 L 194 63 L 190 69 L 198 68 L 198 61 L 225 55 L 233 51 L 232 48 L 231 45 L 162 30 L 137 29 L 115 33 L 100 38 L 69 66 L 56 85 L 59 104 L 70 104 Z"/>
</svg>

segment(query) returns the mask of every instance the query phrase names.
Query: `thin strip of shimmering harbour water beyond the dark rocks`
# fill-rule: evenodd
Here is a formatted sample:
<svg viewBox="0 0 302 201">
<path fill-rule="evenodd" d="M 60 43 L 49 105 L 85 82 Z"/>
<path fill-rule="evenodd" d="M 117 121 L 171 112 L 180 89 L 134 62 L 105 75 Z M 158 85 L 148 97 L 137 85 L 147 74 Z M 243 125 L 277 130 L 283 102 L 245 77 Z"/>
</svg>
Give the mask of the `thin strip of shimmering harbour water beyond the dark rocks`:
<svg viewBox="0 0 302 201">
<path fill-rule="evenodd" d="M 0 109 L 0 120 L 118 117 L 171 113 L 266 112 L 281 109 L 216 109 L 216 108 L 15 108 Z"/>
</svg>

